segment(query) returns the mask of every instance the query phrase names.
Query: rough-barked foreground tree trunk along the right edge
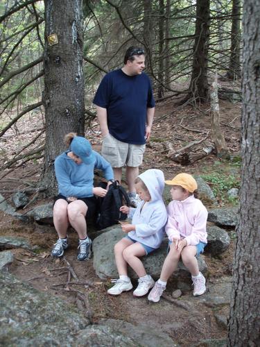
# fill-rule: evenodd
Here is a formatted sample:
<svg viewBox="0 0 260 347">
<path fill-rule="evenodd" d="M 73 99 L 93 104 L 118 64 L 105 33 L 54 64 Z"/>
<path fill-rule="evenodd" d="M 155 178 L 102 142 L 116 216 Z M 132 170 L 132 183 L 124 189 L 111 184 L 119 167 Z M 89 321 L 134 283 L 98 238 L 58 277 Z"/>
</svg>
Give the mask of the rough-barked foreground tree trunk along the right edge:
<svg viewBox="0 0 260 347">
<path fill-rule="evenodd" d="M 260 0 L 244 2 L 241 208 L 228 346 L 260 346 Z"/>
</svg>

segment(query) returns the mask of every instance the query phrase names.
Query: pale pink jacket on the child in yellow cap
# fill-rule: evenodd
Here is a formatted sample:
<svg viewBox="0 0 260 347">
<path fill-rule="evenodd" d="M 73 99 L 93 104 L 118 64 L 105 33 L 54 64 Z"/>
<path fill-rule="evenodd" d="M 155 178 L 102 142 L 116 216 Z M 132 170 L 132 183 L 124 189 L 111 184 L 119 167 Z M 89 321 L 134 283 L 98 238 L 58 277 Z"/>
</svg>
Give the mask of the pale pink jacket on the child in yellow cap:
<svg viewBox="0 0 260 347">
<path fill-rule="evenodd" d="M 184 238 L 187 245 L 207 244 L 207 209 L 193 195 L 184 201 L 173 200 L 168 204 L 168 221 L 165 226 L 168 239 Z"/>
</svg>

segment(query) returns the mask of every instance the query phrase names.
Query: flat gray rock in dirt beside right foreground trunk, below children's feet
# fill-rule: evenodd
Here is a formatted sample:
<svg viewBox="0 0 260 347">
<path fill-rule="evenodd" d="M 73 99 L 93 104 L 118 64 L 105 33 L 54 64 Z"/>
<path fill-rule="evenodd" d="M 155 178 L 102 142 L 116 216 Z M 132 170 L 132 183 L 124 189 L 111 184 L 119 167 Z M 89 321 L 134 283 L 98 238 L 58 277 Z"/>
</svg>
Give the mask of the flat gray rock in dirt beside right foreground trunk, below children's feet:
<svg viewBox="0 0 260 347">
<path fill-rule="evenodd" d="M 206 286 L 206 293 L 202 296 L 196 296 L 196 300 L 209 307 L 229 305 L 232 289 L 232 277 L 220 278 L 214 284 L 206 282 Z"/>
</svg>

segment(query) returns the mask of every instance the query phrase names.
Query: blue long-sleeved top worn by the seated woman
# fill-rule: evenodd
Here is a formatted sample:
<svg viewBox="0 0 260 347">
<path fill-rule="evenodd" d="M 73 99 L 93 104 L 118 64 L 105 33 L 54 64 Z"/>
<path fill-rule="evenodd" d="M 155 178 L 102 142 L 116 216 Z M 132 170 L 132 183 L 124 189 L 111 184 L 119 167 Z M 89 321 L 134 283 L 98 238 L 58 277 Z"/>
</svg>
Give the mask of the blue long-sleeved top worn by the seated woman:
<svg viewBox="0 0 260 347">
<path fill-rule="evenodd" d="M 113 170 L 99 153 L 92 151 L 95 160 L 92 164 L 76 164 L 66 151 L 59 155 L 54 162 L 55 175 L 58 181 L 59 194 L 65 197 L 76 196 L 87 198 L 93 196 L 94 169 L 101 169 L 107 180 L 114 178 Z"/>
</svg>

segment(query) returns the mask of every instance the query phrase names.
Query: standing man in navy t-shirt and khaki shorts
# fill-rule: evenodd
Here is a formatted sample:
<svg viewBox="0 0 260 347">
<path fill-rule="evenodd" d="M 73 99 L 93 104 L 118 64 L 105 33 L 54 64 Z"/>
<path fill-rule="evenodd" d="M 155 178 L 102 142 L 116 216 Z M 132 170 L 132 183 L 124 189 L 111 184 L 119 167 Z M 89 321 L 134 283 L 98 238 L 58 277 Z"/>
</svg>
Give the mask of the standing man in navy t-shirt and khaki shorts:
<svg viewBox="0 0 260 347">
<path fill-rule="evenodd" d="M 110 162 L 115 180 L 121 182 L 122 167 L 126 166 L 128 195 L 135 207 L 139 202 L 135 178 L 155 114 L 150 79 L 143 72 L 144 61 L 144 49 L 128 48 L 124 66 L 105 75 L 93 101 L 103 136 L 101 153 Z"/>
</svg>

